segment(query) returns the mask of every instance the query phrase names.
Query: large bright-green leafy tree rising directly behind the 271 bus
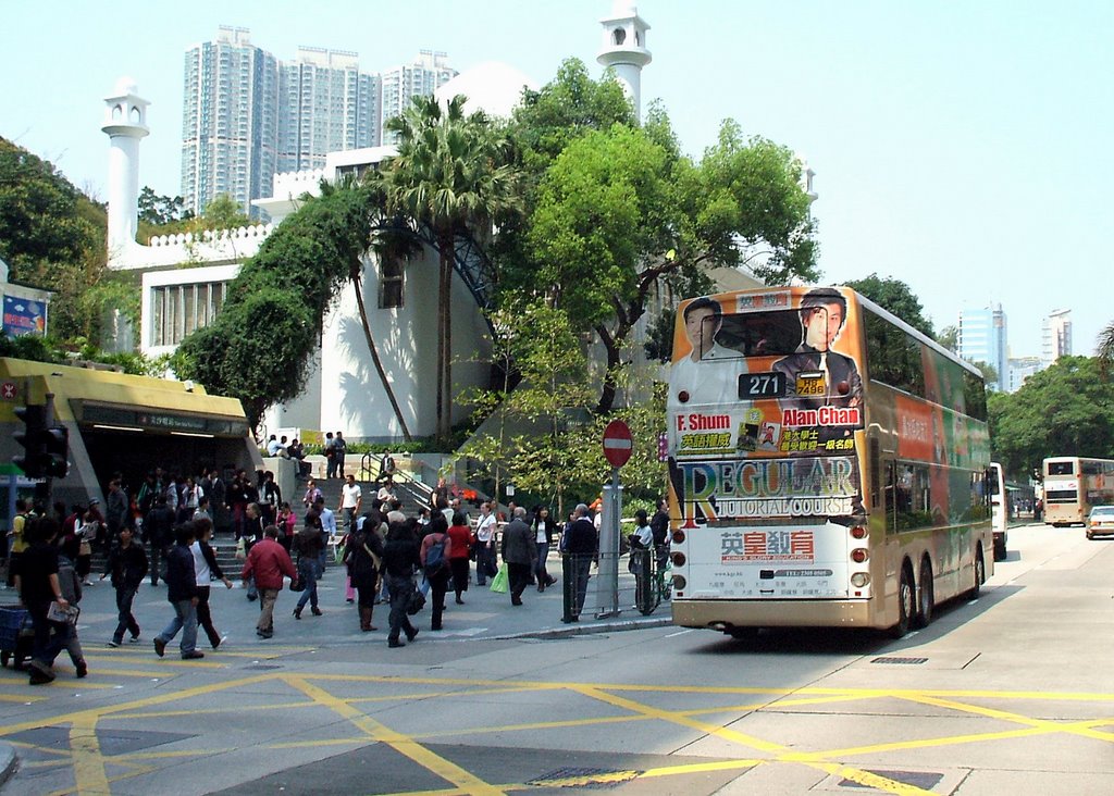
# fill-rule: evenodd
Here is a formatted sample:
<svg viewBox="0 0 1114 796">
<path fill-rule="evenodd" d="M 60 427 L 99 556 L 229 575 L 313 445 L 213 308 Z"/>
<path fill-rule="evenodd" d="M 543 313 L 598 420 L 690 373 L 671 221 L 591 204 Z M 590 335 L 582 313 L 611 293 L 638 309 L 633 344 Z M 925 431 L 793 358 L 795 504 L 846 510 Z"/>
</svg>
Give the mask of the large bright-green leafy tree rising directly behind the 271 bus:
<svg viewBox="0 0 1114 796">
<path fill-rule="evenodd" d="M 815 276 L 800 164 L 734 122 L 698 164 L 680 155 L 659 109 L 644 128 L 615 124 L 571 140 L 541 178 L 517 263 L 504 278 L 545 292 L 593 331 L 607 355 L 596 411 L 616 397 L 622 352 L 651 297 L 746 265 L 770 283 Z"/>
</svg>

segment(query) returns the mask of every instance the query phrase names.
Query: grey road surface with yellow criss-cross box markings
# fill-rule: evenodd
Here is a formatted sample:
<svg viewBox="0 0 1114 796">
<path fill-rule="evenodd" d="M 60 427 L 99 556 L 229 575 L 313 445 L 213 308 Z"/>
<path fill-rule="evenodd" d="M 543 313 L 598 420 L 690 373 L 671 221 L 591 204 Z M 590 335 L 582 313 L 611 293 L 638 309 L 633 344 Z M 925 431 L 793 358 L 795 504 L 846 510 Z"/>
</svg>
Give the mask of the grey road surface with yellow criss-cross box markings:
<svg viewBox="0 0 1114 796">
<path fill-rule="evenodd" d="M 97 647 L 90 596 L 88 679 L 0 672 L 3 794 L 1110 794 L 1114 541 L 1030 525 L 1010 548 L 978 600 L 899 641 L 627 617 L 563 636 L 559 593 L 511 609 L 473 589 L 401 650 L 355 631 L 339 590 L 301 622 L 286 592 L 260 642 L 234 590 L 227 648 L 194 662 Z"/>
</svg>

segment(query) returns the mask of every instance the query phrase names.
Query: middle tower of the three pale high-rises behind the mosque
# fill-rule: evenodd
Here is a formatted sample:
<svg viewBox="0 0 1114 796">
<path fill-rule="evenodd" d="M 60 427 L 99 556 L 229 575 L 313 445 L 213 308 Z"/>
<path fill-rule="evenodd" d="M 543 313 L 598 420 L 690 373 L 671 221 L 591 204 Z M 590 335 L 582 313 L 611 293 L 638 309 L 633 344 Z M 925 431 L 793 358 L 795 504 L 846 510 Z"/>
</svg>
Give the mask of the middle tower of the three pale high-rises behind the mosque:
<svg viewBox="0 0 1114 796">
<path fill-rule="evenodd" d="M 278 171 L 379 144 L 379 76 L 361 72 L 355 52 L 300 47 L 278 67 Z"/>
</svg>

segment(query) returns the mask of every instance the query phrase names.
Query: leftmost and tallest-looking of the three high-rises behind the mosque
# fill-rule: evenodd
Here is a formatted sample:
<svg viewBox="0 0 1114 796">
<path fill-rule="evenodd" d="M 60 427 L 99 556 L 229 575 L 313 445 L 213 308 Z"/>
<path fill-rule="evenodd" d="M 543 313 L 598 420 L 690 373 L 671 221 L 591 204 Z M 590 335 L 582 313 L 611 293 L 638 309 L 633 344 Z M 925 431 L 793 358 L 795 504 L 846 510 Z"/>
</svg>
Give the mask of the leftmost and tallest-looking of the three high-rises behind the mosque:
<svg viewBox="0 0 1114 796">
<path fill-rule="evenodd" d="M 182 196 L 195 214 L 227 194 L 253 217 L 271 194 L 278 135 L 278 62 L 253 47 L 245 28 L 186 51 Z"/>
</svg>

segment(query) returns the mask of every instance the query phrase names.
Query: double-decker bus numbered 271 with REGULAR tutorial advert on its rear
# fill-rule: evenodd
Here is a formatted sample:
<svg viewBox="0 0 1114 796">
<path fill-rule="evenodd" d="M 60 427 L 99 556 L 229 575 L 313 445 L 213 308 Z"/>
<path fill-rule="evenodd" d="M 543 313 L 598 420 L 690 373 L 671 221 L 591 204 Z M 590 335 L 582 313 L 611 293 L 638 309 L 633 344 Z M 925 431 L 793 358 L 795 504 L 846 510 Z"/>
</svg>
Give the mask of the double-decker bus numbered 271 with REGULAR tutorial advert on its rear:
<svg viewBox="0 0 1114 796">
<path fill-rule="evenodd" d="M 983 377 L 854 291 L 683 302 L 666 411 L 677 625 L 903 635 L 993 573 Z"/>
</svg>

